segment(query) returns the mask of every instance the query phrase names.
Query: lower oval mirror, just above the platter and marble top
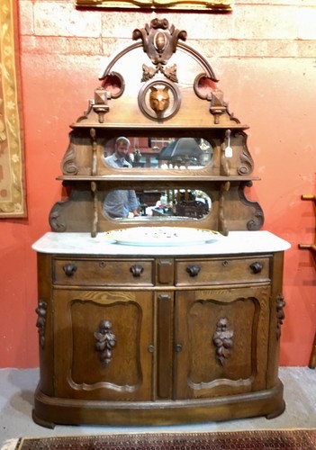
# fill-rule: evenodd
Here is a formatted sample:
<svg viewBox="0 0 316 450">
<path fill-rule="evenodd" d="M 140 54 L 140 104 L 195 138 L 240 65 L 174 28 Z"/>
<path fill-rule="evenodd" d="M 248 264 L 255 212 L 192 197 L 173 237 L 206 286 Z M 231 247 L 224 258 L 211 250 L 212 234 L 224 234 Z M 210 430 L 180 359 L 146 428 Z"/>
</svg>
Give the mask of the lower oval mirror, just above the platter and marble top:
<svg viewBox="0 0 316 450">
<path fill-rule="evenodd" d="M 211 198 L 196 189 L 113 189 L 104 198 L 104 216 L 114 220 L 200 220 L 211 208 Z"/>
</svg>

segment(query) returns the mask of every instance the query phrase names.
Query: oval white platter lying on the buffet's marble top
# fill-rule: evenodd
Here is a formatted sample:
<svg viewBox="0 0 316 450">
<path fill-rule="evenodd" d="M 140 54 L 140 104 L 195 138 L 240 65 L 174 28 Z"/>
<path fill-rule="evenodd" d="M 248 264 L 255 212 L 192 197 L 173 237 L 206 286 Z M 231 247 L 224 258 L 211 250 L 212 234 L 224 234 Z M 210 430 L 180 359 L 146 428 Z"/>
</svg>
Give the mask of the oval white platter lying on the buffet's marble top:
<svg viewBox="0 0 316 450">
<path fill-rule="evenodd" d="M 212 229 L 187 227 L 135 227 L 106 231 L 105 238 L 127 246 L 196 246 L 221 238 Z"/>
</svg>

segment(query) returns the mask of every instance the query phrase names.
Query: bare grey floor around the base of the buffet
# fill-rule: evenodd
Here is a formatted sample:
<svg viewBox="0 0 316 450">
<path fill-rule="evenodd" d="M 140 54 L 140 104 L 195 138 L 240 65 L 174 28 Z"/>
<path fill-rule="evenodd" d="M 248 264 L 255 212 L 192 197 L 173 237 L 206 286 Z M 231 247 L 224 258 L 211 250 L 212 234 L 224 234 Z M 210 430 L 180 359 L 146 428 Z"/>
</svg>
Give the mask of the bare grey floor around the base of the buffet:
<svg viewBox="0 0 316 450">
<path fill-rule="evenodd" d="M 32 421 L 33 392 L 38 369 L 0 369 L 0 449 L 17 437 L 51 437 L 105 433 L 207 432 L 241 429 L 316 428 L 316 370 L 281 367 L 286 410 L 275 419 L 237 419 L 197 425 L 165 427 L 68 427 L 42 428 Z"/>
</svg>

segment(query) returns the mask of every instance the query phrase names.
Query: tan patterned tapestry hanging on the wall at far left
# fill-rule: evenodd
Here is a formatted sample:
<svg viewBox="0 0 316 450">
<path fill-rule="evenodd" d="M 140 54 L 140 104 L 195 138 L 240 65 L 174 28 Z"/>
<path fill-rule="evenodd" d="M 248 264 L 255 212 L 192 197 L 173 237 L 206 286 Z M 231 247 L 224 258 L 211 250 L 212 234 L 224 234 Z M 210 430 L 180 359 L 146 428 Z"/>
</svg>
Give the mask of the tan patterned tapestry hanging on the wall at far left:
<svg viewBox="0 0 316 450">
<path fill-rule="evenodd" d="M 27 215 L 17 4 L 0 8 L 0 218 Z"/>
</svg>

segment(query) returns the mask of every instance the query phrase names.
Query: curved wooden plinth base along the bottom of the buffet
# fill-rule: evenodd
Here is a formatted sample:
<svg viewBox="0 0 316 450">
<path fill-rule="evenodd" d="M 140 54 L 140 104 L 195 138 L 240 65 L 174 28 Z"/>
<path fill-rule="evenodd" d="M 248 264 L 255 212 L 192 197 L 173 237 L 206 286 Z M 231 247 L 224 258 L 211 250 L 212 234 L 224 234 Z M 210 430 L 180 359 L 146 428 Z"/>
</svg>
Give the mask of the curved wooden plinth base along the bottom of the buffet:
<svg viewBox="0 0 316 450">
<path fill-rule="evenodd" d="M 49 397 L 35 392 L 32 419 L 38 425 L 156 426 L 203 423 L 266 416 L 285 410 L 283 384 L 247 394 L 190 401 L 83 401 Z"/>
</svg>

